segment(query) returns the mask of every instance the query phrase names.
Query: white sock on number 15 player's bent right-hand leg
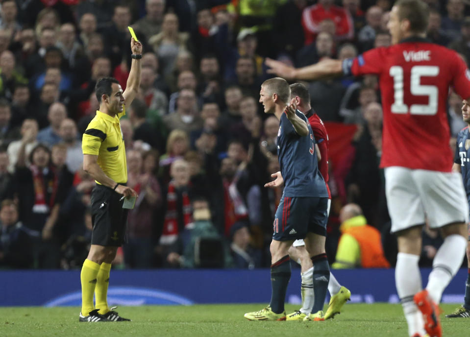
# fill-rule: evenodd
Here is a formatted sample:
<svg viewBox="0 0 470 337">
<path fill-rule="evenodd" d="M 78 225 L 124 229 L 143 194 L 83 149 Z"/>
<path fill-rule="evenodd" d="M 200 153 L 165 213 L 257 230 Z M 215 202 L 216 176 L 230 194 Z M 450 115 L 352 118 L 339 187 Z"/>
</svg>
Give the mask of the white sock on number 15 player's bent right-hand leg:
<svg viewBox="0 0 470 337">
<path fill-rule="evenodd" d="M 445 287 L 462 265 L 467 247 L 467 239 L 461 235 L 449 235 L 434 257 L 426 289 L 429 296 L 439 304 Z"/>
</svg>

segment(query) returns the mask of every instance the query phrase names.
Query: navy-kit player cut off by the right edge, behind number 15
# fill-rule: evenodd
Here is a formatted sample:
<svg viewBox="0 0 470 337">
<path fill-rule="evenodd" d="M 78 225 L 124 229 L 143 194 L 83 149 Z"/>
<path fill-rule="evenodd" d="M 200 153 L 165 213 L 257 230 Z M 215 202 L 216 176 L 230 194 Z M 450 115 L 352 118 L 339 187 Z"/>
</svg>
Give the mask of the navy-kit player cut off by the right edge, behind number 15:
<svg viewBox="0 0 470 337">
<path fill-rule="evenodd" d="M 452 171 L 461 172 L 464 180 L 465 192 L 470 205 L 470 102 L 465 100 L 462 105 L 462 117 L 469 124 L 462 129 L 457 135 L 457 147 L 455 149 L 454 165 Z M 470 317 L 470 224 L 469 224 L 469 241 L 467 242 L 467 264 L 469 274 L 465 283 L 464 305 L 457 308 L 453 313 L 445 315 L 448 318 Z"/>
</svg>

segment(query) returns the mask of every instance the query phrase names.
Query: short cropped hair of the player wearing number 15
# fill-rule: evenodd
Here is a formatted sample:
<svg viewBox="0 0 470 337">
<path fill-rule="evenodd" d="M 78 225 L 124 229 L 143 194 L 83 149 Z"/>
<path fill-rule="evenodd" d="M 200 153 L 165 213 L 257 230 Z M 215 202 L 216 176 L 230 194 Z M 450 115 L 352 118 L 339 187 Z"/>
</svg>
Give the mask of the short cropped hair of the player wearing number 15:
<svg viewBox="0 0 470 337">
<path fill-rule="evenodd" d="M 429 21 L 429 7 L 421 0 L 398 0 L 395 5 L 398 8 L 398 19 L 408 20 L 410 30 L 414 33 L 422 33 L 427 29 Z"/>
</svg>

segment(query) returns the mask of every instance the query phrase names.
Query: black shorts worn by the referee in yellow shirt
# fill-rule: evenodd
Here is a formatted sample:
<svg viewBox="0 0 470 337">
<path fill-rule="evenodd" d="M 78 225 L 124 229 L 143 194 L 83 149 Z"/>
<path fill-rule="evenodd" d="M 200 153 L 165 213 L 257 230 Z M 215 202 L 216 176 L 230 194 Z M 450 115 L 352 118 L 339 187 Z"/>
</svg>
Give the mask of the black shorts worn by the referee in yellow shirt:
<svg viewBox="0 0 470 337">
<path fill-rule="evenodd" d="M 124 185 L 124 184 L 121 184 Z M 96 185 L 91 193 L 93 232 L 91 243 L 100 246 L 121 246 L 124 243 L 127 209 L 122 195 L 113 189 Z"/>
</svg>

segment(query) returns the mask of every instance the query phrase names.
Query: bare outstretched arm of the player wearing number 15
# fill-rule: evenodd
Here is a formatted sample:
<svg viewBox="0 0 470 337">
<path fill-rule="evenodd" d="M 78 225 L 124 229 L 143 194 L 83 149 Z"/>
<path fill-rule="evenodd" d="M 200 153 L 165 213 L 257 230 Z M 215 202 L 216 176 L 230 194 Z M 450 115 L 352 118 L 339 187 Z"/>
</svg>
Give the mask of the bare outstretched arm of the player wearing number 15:
<svg viewBox="0 0 470 337">
<path fill-rule="evenodd" d="M 303 68 L 294 68 L 280 61 L 267 58 L 268 73 L 276 74 L 285 79 L 317 80 L 343 74 L 343 63 L 340 60 L 324 59 Z"/>
</svg>

